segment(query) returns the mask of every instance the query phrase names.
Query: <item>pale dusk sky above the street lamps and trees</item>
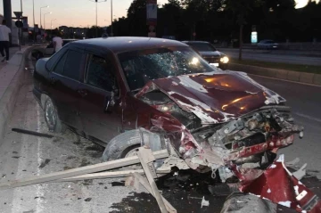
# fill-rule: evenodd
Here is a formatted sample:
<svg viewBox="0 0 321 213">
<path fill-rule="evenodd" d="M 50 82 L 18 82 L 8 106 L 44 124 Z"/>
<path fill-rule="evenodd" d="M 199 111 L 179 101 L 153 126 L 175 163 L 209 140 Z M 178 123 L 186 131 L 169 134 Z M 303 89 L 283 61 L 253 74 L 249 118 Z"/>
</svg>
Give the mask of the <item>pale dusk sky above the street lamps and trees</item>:
<svg viewBox="0 0 321 213">
<path fill-rule="evenodd" d="M 49 5 L 49 8 L 42 9 L 45 12 L 53 12 L 45 15 L 45 26 L 50 28 L 53 20 L 53 28 L 61 25 L 86 27 L 95 25 L 95 3 L 89 0 L 34 0 L 35 19 L 40 23 L 40 7 Z M 102 0 L 101 0 L 102 1 Z M 132 0 L 113 0 L 113 18 L 126 16 L 127 9 Z M 158 4 L 165 4 L 168 0 L 158 0 Z M 297 7 L 307 4 L 308 0 L 297 0 Z M 32 0 L 22 0 L 24 15 L 28 16 L 29 26 L 33 26 Z M 21 1 L 12 0 L 12 12 L 21 10 Z M 3 14 L 3 1 L 0 0 L 0 12 Z M 56 20 L 54 20 L 56 19 Z M 44 15 L 42 15 L 44 21 Z M 111 0 L 98 4 L 98 26 L 111 24 Z M 44 25 L 44 23 L 43 23 Z"/>
</svg>

